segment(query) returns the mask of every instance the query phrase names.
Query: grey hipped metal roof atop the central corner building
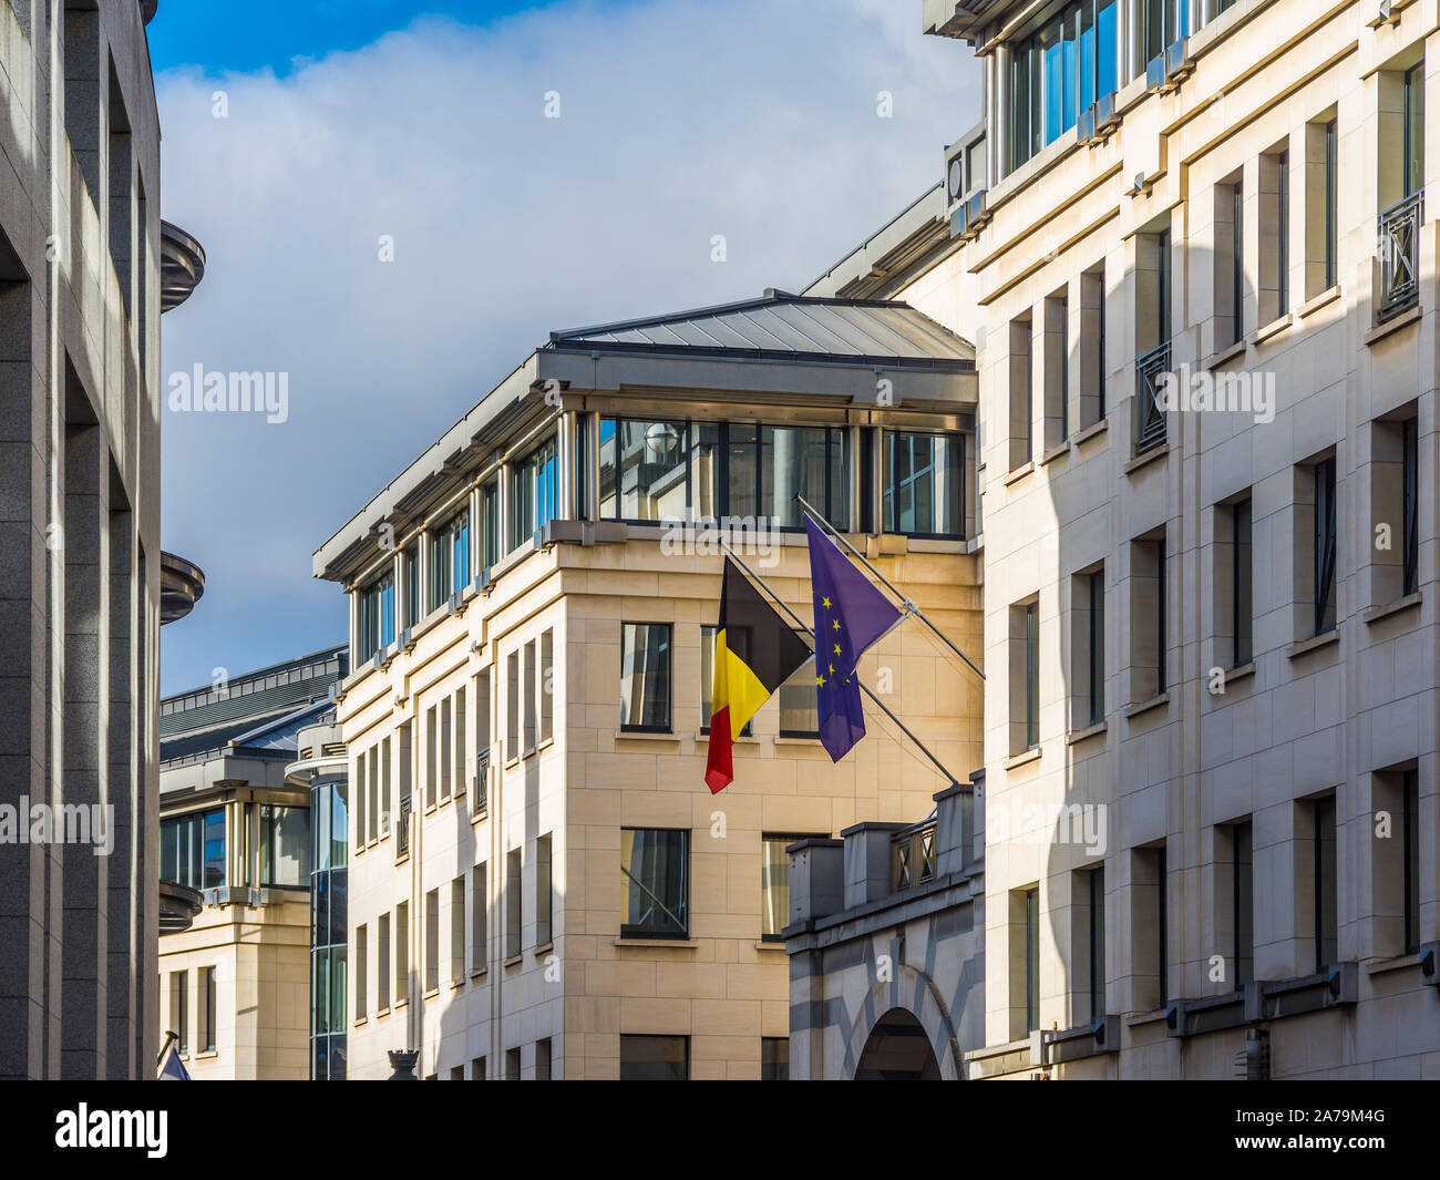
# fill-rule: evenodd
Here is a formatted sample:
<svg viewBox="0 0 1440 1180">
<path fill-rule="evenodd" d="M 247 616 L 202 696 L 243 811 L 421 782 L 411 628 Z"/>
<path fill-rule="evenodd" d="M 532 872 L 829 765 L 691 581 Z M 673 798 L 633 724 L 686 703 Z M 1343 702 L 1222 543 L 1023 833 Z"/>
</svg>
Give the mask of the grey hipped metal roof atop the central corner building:
<svg viewBox="0 0 1440 1180">
<path fill-rule="evenodd" d="M 766 291 L 757 300 L 552 331 L 550 349 L 973 372 L 975 347 L 906 303 Z"/>
</svg>

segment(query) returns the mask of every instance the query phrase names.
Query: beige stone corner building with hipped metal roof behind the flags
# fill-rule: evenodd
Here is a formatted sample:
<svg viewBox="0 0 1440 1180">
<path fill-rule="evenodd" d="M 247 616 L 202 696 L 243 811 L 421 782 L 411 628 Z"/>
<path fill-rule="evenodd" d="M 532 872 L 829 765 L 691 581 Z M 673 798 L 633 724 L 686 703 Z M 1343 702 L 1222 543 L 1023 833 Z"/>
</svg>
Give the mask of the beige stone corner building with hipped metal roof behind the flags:
<svg viewBox="0 0 1440 1180">
<path fill-rule="evenodd" d="M 802 490 L 978 650 L 973 389 L 963 340 L 874 301 L 554 333 L 317 552 L 356 660 L 351 1078 L 406 1049 L 438 1079 L 788 1075 L 785 849 L 948 784 L 868 709 L 832 765 L 806 667 L 711 797 L 716 535 L 809 620 Z M 979 681 L 917 624 L 861 674 L 978 764 Z"/>
</svg>

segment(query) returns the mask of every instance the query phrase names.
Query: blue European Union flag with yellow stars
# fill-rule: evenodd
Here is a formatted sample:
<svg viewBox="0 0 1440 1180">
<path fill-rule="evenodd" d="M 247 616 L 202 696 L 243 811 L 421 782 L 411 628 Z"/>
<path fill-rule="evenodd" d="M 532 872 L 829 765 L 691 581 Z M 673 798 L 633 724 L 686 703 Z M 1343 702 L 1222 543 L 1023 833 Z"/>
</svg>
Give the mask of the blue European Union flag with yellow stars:
<svg viewBox="0 0 1440 1180">
<path fill-rule="evenodd" d="M 815 598 L 815 697 L 819 741 L 832 762 L 865 736 L 865 710 L 855 667 L 865 648 L 900 621 L 900 611 L 805 519 Z"/>
</svg>

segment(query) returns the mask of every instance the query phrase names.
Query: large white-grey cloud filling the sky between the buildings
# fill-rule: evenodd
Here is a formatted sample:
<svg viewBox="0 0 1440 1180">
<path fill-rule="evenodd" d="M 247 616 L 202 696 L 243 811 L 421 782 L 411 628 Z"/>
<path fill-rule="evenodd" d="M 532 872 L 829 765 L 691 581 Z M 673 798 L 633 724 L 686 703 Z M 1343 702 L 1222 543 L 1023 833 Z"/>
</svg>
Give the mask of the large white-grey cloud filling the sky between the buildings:
<svg viewBox="0 0 1440 1180">
<path fill-rule="evenodd" d="M 559 3 L 161 75 L 164 212 L 209 254 L 164 372 L 289 373 L 285 425 L 164 415 L 164 545 L 209 575 L 166 690 L 341 638 L 311 552 L 552 328 L 796 290 L 939 180 L 978 71 L 919 9 Z"/>
</svg>

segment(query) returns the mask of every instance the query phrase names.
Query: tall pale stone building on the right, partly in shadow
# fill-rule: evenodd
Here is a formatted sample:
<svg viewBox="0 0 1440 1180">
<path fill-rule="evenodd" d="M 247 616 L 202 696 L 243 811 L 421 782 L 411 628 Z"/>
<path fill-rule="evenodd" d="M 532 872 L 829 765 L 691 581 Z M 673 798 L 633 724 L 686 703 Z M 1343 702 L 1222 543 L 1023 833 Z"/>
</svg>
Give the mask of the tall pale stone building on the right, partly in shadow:
<svg viewBox="0 0 1440 1180">
<path fill-rule="evenodd" d="M 978 344 L 966 1076 L 1440 1076 L 1436 4 L 923 13 L 985 120 L 809 294 Z"/>
</svg>

